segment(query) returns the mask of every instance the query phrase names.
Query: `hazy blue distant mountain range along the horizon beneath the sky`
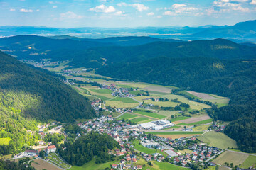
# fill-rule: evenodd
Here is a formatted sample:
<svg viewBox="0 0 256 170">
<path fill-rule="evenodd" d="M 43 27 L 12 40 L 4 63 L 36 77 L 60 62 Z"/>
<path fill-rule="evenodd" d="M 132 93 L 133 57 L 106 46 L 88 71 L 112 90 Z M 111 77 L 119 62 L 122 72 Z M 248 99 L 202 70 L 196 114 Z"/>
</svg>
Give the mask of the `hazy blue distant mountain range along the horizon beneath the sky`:
<svg viewBox="0 0 256 170">
<path fill-rule="evenodd" d="M 71 35 L 82 38 L 107 38 L 120 36 L 151 36 L 179 40 L 209 40 L 225 38 L 235 42 L 256 42 L 256 20 L 234 26 L 200 27 L 139 27 L 139 28 L 47 28 L 33 26 L 1 26 L 0 36 L 11 35 Z"/>
</svg>

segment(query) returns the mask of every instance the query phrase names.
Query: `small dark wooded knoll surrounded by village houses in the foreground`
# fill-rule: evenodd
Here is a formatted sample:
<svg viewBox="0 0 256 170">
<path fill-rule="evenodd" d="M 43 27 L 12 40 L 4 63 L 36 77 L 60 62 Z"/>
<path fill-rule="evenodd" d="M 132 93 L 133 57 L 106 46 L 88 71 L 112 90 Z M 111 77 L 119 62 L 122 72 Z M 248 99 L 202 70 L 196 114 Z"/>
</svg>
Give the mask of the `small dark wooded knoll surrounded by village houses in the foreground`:
<svg viewBox="0 0 256 170">
<path fill-rule="evenodd" d="M 59 149 L 60 156 L 72 165 L 82 166 L 96 157 L 96 164 L 109 162 L 114 155 L 109 150 L 120 148 L 119 143 L 107 134 L 89 132 L 75 142 L 65 142 L 66 149 Z"/>
</svg>

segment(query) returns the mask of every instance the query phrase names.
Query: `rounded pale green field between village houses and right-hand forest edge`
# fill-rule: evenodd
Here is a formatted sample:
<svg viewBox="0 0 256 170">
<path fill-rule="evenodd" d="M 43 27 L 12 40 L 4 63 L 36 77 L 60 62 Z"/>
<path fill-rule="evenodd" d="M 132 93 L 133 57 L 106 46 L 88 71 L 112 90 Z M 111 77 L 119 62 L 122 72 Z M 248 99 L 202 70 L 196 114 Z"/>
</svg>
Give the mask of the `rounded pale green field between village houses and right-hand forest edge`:
<svg viewBox="0 0 256 170">
<path fill-rule="evenodd" d="M 215 132 L 215 131 L 206 132 L 205 134 L 198 136 L 197 138 L 198 140 L 201 140 L 207 143 L 209 146 L 219 147 L 221 149 L 227 149 L 228 147 L 230 148 L 238 147 L 236 145 L 235 140 L 231 139 L 227 135 L 220 132 Z"/>
</svg>

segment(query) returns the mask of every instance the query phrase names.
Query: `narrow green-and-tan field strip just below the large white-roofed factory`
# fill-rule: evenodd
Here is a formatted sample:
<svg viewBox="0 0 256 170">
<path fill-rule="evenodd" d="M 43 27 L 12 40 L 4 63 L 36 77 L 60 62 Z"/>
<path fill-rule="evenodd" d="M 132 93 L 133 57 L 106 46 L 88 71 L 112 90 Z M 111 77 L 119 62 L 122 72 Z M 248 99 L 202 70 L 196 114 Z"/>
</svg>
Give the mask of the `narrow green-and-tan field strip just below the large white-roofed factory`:
<svg viewBox="0 0 256 170">
<path fill-rule="evenodd" d="M 197 136 L 201 135 L 203 132 L 146 132 L 151 133 L 153 135 L 159 136 L 159 137 L 170 137 L 171 139 L 178 139 L 181 137 L 191 137 L 191 136 Z"/>
</svg>

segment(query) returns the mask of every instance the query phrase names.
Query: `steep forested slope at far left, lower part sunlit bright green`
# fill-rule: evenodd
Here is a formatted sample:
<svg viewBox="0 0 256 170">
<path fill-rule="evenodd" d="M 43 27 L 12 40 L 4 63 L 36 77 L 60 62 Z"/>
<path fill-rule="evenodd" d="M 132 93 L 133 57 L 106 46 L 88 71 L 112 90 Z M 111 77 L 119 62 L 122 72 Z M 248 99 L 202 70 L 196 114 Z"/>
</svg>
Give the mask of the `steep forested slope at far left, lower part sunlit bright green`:
<svg viewBox="0 0 256 170">
<path fill-rule="evenodd" d="M 0 138 L 11 138 L 0 146 L 0 154 L 20 152 L 36 145 L 39 121 L 73 122 L 93 118 L 87 98 L 44 69 L 36 69 L 0 52 Z"/>
</svg>

